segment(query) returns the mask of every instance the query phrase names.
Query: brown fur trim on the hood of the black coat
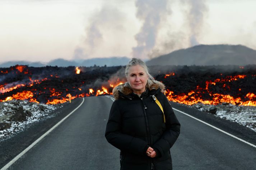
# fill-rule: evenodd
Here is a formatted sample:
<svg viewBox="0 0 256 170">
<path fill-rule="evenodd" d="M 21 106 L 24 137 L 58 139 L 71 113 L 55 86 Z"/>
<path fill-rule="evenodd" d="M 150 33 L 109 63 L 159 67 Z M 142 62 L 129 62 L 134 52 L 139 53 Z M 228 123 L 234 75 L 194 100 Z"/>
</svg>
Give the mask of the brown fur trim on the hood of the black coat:
<svg viewBox="0 0 256 170">
<path fill-rule="evenodd" d="M 164 84 L 162 82 L 155 80 L 154 83 L 149 87 L 149 91 L 153 89 L 158 89 L 158 88 L 160 88 L 161 92 L 164 93 L 164 90 L 165 90 Z M 113 96 L 115 97 L 116 100 L 120 98 L 119 92 L 125 95 L 129 95 L 132 93 L 132 88 L 128 82 L 125 82 L 124 84 L 120 84 L 116 86 L 112 91 Z"/>
</svg>

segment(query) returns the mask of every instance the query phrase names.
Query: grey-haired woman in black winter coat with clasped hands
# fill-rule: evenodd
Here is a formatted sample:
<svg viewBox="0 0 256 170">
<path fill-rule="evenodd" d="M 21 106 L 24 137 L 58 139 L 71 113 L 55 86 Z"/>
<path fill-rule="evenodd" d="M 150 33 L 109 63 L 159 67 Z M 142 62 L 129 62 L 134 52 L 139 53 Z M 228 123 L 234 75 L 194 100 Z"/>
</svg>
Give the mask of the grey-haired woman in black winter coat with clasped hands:
<svg viewBox="0 0 256 170">
<path fill-rule="evenodd" d="M 121 170 L 172 169 L 170 148 L 180 134 L 164 84 L 155 81 L 146 64 L 132 58 L 125 68 L 127 82 L 113 89 L 105 137 L 120 149 Z"/>
</svg>

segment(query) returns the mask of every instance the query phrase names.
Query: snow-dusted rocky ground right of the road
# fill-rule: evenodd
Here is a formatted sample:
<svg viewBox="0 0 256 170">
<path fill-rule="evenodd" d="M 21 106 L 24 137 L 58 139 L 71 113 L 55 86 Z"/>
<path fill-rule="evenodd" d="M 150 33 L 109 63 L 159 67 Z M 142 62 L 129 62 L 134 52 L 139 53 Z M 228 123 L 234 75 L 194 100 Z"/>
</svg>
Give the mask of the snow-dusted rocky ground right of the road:
<svg viewBox="0 0 256 170">
<path fill-rule="evenodd" d="M 188 107 L 211 113 L 217 117 L 227 119 L 232 122 L 237 122 L 256 132 L 255 106 L 236 106 L 229 103 L 222 103 L 219 105 L 204 105 L 201 103 L 197 103 Z"/>
</svg>

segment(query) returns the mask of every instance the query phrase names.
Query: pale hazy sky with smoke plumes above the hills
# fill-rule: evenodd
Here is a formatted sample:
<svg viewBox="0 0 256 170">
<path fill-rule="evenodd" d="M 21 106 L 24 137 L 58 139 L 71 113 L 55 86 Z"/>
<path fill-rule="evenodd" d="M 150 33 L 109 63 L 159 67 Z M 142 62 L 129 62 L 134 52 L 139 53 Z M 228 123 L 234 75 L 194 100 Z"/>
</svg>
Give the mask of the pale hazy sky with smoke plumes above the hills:
<svg viewBox="0 0 256 170">
<path fill-rule="evenodd" d="M 199 44 L 256 50 L 255 0 L 0 0 L 0 63 L 150 59 Z"/>
</svg>

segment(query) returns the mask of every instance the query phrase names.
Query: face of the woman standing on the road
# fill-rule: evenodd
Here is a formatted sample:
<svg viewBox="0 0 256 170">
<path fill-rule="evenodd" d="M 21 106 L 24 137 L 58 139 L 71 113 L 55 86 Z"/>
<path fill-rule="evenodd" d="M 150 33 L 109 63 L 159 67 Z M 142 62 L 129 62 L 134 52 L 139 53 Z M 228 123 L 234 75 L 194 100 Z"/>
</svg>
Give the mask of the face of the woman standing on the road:
<svg viewBox="0 0 256 170">
<path fill-rule="evenodd" d="M 148 75 L 143 67 L 140 65 L 134 65 L 129 69 L 127 81 L 129 82 L 134 93 L 141 94 L 145 91 Z"/>
</svg>

